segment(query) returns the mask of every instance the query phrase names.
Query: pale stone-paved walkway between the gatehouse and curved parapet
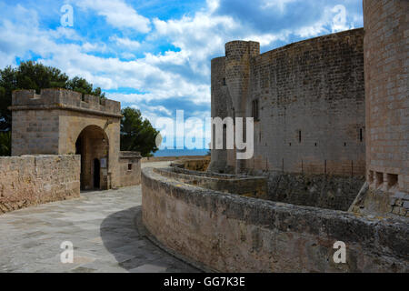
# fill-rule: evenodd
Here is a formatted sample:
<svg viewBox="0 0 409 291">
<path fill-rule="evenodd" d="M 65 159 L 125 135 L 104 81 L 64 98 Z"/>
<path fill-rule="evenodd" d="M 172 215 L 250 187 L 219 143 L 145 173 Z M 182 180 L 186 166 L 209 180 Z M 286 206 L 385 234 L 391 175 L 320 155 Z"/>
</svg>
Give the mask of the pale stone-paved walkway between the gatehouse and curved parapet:
<svg viewBox="0 0 409 291">
<path fill-rule="evenodd" d="M 0 216 L 0 272 L 197 272 L 138 233 L 141 198 L 140 186 L 86 192 Z M 61 263 L 65 241 L 72 264 Z"/>
</svg>

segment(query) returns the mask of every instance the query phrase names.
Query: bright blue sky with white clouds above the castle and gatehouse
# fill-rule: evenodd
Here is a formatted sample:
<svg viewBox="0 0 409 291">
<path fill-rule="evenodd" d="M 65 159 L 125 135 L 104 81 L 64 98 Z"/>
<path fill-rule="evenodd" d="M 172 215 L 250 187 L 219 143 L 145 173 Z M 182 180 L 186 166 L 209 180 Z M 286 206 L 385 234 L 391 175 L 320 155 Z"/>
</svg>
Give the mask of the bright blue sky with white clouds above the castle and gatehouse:
<svg viewBox="0 0 409 291">
<path fill-rule="evenodd" d="M 72 27 L 61 25 L 63 5 Z M 362 26 L 361 0 L 0 0 L 0 67 L 56 66 L 155 125 L 176 109 L 210 115 L 210 60 L 225 42 L 259 41 L 265 52 Z"/>
</svg>

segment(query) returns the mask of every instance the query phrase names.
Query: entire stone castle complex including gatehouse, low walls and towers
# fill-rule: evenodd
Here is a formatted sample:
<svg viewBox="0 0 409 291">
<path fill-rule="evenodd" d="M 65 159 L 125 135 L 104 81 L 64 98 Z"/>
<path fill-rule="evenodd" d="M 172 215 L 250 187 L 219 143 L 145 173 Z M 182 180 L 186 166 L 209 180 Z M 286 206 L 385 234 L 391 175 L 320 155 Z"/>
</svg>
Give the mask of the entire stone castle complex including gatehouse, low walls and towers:
<svg viewBox="0 0 409 291">
<path fill-rule="evenodd" d="M 364 0 L 364 29 L 262 55 L 227 43 L 212 60 L 212 116 L 254 117 L 254 158 L 212 149 L 207 172 L 141 174 L 140 156 L 119 151 L 115 101 L 16 91 L 0 213 L 141 182 L 134 222 L 207 270 L 407 273 L 407 15 L 409 1 Z"/>
</svg>

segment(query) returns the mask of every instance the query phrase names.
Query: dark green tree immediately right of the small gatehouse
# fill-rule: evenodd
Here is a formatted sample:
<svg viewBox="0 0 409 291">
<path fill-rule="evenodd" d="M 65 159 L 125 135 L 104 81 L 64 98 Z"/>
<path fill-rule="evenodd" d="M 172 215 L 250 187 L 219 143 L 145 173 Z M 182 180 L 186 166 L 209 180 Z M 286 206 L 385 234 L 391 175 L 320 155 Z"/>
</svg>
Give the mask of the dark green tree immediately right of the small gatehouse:
<svg viewBox="0 0 409 291">
<path fill-rule="evenodd" d="M 158 148 L 155 143 L 159 134 L 141 115 L 141 111 L 127 107 L 122 109 L 124 117 L 121 120 L 121 151 L 137 151 L 142 156 L 153 156 Z"/>
</svg>

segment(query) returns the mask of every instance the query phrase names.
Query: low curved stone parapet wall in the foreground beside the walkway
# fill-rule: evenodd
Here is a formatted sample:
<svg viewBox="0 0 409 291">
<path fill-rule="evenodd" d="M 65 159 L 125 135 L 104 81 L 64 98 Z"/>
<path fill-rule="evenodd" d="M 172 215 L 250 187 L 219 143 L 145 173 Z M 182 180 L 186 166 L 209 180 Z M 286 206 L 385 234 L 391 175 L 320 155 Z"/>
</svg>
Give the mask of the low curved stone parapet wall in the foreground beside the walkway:
<svg viewBox="0 0 409 291">
<path fill-rule="evenodd" d="M 408 272 L 403 220 L 293 206 L 142 175 L 143 222 L 179 254 L 222 272 Z M 335 264 L 334 243 L 346 245 Z"/>
</svg>

